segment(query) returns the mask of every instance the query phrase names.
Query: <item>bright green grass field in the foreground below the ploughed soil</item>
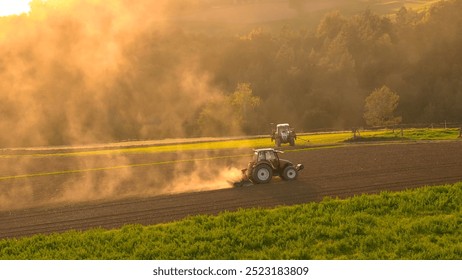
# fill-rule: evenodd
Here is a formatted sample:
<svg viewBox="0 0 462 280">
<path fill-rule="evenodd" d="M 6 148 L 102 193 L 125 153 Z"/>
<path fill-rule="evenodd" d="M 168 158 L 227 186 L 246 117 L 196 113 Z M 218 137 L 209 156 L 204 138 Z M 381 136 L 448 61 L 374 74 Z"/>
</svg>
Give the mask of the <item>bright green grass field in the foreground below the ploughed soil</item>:
<svg viewBox="0 0 462 280">
<path fill-rule="evenodd" d="M 0 240 L 1 259 L 461 259 L 462 183 Z"/>
</svg>

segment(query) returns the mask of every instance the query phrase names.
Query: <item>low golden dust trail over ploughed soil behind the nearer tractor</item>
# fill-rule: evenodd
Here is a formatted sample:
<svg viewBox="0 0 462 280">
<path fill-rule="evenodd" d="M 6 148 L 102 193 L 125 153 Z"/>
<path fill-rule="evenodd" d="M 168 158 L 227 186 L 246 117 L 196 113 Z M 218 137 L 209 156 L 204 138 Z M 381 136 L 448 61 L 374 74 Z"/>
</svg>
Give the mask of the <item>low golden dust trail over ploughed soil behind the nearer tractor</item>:
<svg viewBox="0 0 462 280">
<path fill-rule="evenodd" d="M 0 211 L 231 188 L 248 158 L 219 153 L 4 153 Z"/>
</svg>

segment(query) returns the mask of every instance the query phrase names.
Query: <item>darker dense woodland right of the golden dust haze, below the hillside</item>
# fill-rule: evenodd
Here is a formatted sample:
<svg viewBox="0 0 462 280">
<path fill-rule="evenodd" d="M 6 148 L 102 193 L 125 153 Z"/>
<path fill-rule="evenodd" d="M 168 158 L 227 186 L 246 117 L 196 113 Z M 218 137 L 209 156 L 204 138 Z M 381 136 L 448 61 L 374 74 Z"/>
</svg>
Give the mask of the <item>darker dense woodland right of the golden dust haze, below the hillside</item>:
<svg viewBox="0 0 462 280">
<path fill-rule="evenodd" d="M 202 65 L 225 91 L 246 81 L 261 99 L 247 133 L 282 121 L 302 130 L 372 124 L 366 98 L 383 87 L 399 99 L 395 122 L 460 122 L 461 11 L 461 1 L 445 1 L 391 16 L 332 12 L 316 30 L 252 30 L 207 52 Z"/>
</svg>

